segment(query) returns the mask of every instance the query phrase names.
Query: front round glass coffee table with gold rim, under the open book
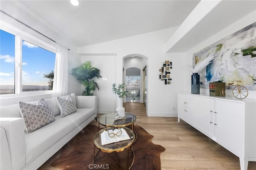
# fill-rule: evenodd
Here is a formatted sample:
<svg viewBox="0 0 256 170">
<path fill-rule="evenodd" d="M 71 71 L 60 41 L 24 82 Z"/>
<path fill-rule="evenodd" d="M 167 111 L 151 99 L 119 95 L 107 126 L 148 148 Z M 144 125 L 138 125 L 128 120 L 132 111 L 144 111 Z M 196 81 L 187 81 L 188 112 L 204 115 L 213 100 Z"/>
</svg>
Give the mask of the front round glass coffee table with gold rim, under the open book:
<svg viewBox="0 0 256 170">
<path fill-rule="evenodd" d="M 127 128 L 127 127 L 122 127 L 122 128 L 127 132 L 130 139 L 102 145 L 101 134 L 106 130 L 114 130 L 114 129 L 116 129 L 116 127 L 106 127 L 106 128 L 101 129 L 100 131 L 98 131 L 95 134 L 94 140 L 93 140 L 93 142 L 94 142 L 94 148 L 93 148 L 94 157 L 93 157 L 92 164 L 95 163 L 94 160 L 99 151 L 111 153 L 111 152 L 122 152 L 122 151 L 126 150 L 126 156 L 127 156 L 126 157 L 126 168 L 130 169 L 132 167 L 132 165 L 134 163 L 134 159 L 135 159 L 134 151 L 132 149 L 132 144 L 134 143 L 134 140 L 135 140 L 135 134 L 130 128 Z M 95 152 L 95 148 L 98 149 L 96 152 Z M 129 163 L 130 162 L 130 160 L 129 160 L 129 151 L 130 150 L 132 151 L 132 154 L 133 154 L 133 160 L 132 160 L 131 165 Z"/>
</svg>

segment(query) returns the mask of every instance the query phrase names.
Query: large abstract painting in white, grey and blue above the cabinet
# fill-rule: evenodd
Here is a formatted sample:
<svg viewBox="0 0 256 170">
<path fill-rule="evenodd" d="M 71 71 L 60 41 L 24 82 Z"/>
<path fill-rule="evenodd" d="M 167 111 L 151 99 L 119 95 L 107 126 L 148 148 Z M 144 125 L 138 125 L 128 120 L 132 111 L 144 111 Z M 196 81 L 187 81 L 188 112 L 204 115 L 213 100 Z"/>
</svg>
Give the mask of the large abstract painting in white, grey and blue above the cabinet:
<svg viewBox="0 0 256 170">
<path fill-rule="evenodd" d="M 203 56 L 214 59 L 200 74 L 200 87 L 210 82 L 241 80 L 248 90 L 256 90 L 256 22 L 193 54 L 193 67 Z"/>
</svg>

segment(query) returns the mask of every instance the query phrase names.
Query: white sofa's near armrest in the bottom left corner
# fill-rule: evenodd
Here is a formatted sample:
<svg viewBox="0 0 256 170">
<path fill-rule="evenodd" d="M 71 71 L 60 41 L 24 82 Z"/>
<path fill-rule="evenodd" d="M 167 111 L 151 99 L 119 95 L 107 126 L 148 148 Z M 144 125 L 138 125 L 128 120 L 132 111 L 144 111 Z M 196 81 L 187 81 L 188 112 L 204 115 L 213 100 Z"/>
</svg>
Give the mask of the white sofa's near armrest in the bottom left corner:
<svg viewBox="0 0 256 170">
<path fill-rule="evenodd" d="M 8 142 L 8 150 L 10 152 L 11 158 L 11 166 L 13 170 L 22 169 L 25 166 L 26 159 L 26 144 L 25 144 L 25 131 L 24 131 L 24 121 L 22 118 L 0 118 L 0 128 L 4 129 L 6 138 L 2 138 L 4 134 L 1 131 L 1 143 L 7 139 Z M 3 141 L 2 141 L 3 140 Z M 2 147 L 2 146 L 1 146 Z M 2 150 L 2 148 L 1 148 Z M 2 153 L 2 151 L 1 151 Z M 8 154 L 2 155 L 4 156 L 2 159 L 8 160 Z M 6 162 L 8 163 L 8 162 Z M 2 166 L 8 166 L 8 164 L 3 164 Z"/>
</svg>

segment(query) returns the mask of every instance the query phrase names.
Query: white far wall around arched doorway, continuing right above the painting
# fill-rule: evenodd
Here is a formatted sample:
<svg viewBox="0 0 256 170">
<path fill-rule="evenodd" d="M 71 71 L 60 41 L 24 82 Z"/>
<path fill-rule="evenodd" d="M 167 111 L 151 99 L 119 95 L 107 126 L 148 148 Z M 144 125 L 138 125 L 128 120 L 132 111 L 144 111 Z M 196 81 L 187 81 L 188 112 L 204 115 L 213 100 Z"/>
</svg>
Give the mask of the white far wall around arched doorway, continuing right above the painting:
<svg viewBox="0 0 256 170">
<path fill-rule="evenodd" d="M 101 54 L 115 54 L 116 63 L 111 62 L 110 65 L 115 67 L 112 73 L 112 80 L 117 83 L 122 83 L 123 73 L 123 57 L 131 54 L 140 54 L 148 57 L 147 71 L 148 71 L 148 88 L 147 88 L 147 115 L 148 116 L 176 116 L 177 113 L 177 93 L 178 92 L 191 92 L 191 70 L 192 70 L 192 56 L 193 53 L 200 49 L 217 42 L 218 40 L 256 22 L 255 11 L 246 17 L 238 20 L 229 27 L 223 29 L 218 34 L 215 34 L 208 40 L 196 45 L 192 49 L 186 51 L 186 53 L 165 53 L 164 44 L 169 37 L 174 33 L 177 28 L 169 28 L 147 34 L 141 34 L 138 36 L 132 36 L 119 40 L 114 40 L 105 43 L 99 43 L 95 45 L 89 45 L 78 48 L 78 53 L 88 59 L 85 54 L 94 54 L 90 56 L 93 59 L 95 55 L 99 58 L 95 58 L 94 61 L 99 62 L 99 69 L 104 69 L 104 63 L 102 59 L 106 56 L 100 56 Z M 206 30 L 207 31 L 207 30 Z M 173 69 L 171 70 L 172 84 L 164 85 L 162 81 L 158 79 L 158 70 L 162 66 L 162 62 L 170 60 L 173 63 Z M 114 62 L 114 61 L 112 61 Z M 101 64 L 100 64 L 101 63 Z M 102 73 L 104 73 L 102 71 Z M 108 71 L 108 74 L 111 74 Z M 99 82 L 100 84 L 101 82 Z M 111 83 L 109 83 L 111 84 Z M 104 85 L 102 85 L 102 88 Z M 109 86 L 109 85 L 108 85 Z M 108 101 L 110 105 L 106 107 L 104 102 L 99 103 L 99 110 L 106 111 L 116 108 L 116 99 L 111 94 L 111 87 L 97 92 L 99 100 Z M 209 89 L 200 89 L 201 93 L 209 93 Z M 96 93 L 95 93 L 96 94 Z M 232 95 L 232 94 L 231 94 Z M 248 98 L 256 98 L 255 91 L 249 91 Z M 111 107 L 111 108 L 110 108 Z M 107 108 L 107 109 L 106 109 Z M 100 113 L 100 112 L 99 112 Z"/>
</svg>

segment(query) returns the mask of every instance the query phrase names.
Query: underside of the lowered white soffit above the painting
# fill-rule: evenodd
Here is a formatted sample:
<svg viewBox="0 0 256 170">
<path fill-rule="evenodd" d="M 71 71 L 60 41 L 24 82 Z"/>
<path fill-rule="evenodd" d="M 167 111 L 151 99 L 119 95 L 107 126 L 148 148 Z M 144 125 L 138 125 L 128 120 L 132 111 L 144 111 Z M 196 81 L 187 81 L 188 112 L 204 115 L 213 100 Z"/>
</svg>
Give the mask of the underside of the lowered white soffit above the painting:
<svg viewBox="0 0 256 170">
<path fill-rule="evenodd" d="M 222 0 L 168 52 L 185 52 L 254 10 L 256 0 Z"/>
</svg>

